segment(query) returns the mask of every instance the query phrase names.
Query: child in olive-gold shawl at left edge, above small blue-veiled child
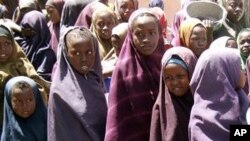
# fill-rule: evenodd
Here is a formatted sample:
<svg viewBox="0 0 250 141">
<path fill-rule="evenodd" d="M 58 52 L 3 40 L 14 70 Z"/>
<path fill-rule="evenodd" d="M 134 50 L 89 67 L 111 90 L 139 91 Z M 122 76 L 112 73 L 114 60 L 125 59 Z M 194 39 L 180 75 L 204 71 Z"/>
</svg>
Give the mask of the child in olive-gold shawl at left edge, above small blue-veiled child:
<svg viewBox="0 0 250 141">
<path fill-rule="evenodd" d="M 47 104 L 49 83 L 42 79 L 18 46 L 7 26 L 0 25 L 0 127 L 2 127 L 2 110 L 4 87 L 15 76 L 27 76 L 39 87 L 44 102 Z"/>
</svg>

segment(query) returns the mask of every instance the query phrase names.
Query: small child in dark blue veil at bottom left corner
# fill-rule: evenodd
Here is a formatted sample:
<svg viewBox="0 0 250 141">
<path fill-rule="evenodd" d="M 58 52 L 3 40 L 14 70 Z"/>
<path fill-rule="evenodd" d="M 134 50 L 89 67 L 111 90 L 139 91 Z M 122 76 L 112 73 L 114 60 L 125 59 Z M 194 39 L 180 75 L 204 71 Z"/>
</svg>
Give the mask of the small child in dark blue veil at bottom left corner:
<svg viewBox="0 0 250 141">
<path fill-rule="evenodd" d="M 24 76 L 10 79 L 4 92 L 1 141 L 14 140 L 47 140 L 47 109 L 36 83 Z"/>
</svg>

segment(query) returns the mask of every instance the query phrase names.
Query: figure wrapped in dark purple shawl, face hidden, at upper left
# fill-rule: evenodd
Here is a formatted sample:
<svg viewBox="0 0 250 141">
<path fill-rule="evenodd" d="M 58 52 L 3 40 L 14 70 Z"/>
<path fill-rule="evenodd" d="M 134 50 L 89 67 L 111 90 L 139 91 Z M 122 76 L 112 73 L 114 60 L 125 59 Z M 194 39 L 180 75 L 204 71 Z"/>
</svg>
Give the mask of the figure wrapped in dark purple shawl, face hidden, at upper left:
<svg viewBox="0 0 250 141">
<path fill-rule="evenodd" d="M 17 42 L 24 50 L 26 56 L 33 64 L 37 73 L 50 81 L 51 72 L 56 55 L 50 48 L 50 31 L 45 16 L 38 11 L 26 13 L 21 21 L 21 27 L 30 29 L 30 35 L 18 36 Z"/>
</svg>

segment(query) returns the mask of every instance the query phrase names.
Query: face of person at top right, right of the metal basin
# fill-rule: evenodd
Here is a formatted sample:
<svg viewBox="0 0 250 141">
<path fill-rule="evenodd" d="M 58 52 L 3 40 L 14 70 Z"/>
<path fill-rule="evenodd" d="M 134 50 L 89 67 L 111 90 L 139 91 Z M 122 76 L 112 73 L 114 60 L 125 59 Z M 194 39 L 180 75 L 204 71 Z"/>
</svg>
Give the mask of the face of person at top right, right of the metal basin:
<svg viewBox="0 0 250 141">
<path fill-rule="evenodd" d="M 243 2 L 242 2 L 242 0 L 228 0 L 225 8 L 228 12 L 227 18 L 231 22 L 239 21 L 243 15 Z"/>
</svg>

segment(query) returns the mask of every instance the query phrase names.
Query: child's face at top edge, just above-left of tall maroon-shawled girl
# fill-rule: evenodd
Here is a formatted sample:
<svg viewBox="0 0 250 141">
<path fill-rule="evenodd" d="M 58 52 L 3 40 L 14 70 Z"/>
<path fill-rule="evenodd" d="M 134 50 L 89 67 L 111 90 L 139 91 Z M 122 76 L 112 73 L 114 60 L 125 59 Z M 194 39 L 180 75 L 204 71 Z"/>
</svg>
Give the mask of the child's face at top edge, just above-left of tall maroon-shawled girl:
<svg viewBox="0 0 250 141">
<path fill-rule="evenodd" d="M 133 0 L 122 0 L 119 7 L 119 14 L 123 21 L 127 22 L 130 15 L 135 11 Z"/>
</svg>

